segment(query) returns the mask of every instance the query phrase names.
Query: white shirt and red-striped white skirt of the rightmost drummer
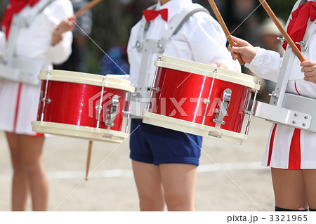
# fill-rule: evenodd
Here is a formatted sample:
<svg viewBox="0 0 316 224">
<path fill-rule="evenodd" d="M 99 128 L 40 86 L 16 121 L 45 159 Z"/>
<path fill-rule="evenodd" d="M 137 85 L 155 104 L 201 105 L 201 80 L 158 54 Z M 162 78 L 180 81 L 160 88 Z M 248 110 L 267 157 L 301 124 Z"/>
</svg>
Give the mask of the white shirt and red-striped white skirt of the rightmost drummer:
<svg viewBox="0 0 316 224">
<path fill-rule="evenodd" d="M 313 22 L 308 20 L 307 30 Z M 302 54 L 306 60 L 316 60 L 316 30 L 312 33 L 308 50 L 302 51 Z M 254 60 L 246 64 L 246 67 L 258 76 L 277 81 L 281 65 L 279 53 L 257 48 Z M 291 64 L 287 92 L 316 98 L 316 84 L 303 78 L 300 61 L 296 57 Z M 262 164 L 279 169 L 316 169 L 316 133 L 280 124 L 273 125 Z"/>
</svg>

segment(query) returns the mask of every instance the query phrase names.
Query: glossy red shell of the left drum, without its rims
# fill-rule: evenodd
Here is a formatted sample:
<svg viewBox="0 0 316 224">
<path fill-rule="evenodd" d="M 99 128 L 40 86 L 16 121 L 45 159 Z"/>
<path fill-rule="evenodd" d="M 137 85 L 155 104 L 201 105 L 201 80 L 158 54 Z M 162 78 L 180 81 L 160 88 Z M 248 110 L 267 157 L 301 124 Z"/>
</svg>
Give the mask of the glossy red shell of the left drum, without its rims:
<svg viewBox="0 0 316 224">
<path fill-rule="evenodd" d="M 44 97 L 46 80 L 41 84 L 41 98 Z M 100 104 L 102 86 L 90 84 L 76 84 L 64 81 L 48 81 L 46 98 L 51 102 L 45 104 L 43 121 L 73 124 L 77 126 L 88 126 L 96 128 L 98 112 L 96 105 Z M 104 124 L 107 117 L 105 105 L 110 105 L 113 95 L 119 95 L 118 114 L 114 120 L 113 131 L 122 131 L 122 121 L 126 91 L 115 88 L 104 88 L 103 110 L 100 113 L 100 129 L 108 129 Z M 43 101 L 40 100 L 37 121 L 41 120 Z"/>
</svg>

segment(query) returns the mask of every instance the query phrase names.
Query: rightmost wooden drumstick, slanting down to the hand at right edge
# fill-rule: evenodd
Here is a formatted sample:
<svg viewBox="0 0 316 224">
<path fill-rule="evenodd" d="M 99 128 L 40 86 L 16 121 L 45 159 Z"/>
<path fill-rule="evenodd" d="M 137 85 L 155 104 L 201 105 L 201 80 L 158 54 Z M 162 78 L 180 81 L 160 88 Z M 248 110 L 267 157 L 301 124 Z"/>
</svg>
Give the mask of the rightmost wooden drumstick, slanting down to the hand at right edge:
<svg viewBox="0 0 316 224">
<path fill-rule="evenodd" d="M 282 26 L 281 22 L 279 22 L 279 20 L 277 19 L 277 16 L 275 16 L 275 13 L 273 13 L 273 11 L 270 8 L 270 6 L 268 5 L 267 1 L 265 1 L 265 0 L 259 0 L 259 1 L 261 2 L 261 5 L 265 9 L 265 11 L 268 13 L 268 15 L 270 16 L 272 21 L 275 22 L 275 25 L 277 26 L 277 29 L 279 29 L 279 32 L 281 32 L 281 34 L 283 35 L 284 39 L 287 40 L 287 43 L 289 44 L 289 46 L 291 46 L 292 50 L 294 51 L 294 53 L 298 57 L 298 59 L 301 62 L 305 61 L 305 58 L 302 55 L 301 51 L 298 50 L 296 44 L 294 44 L 294 41 L 291 39 L 291 37 L 289 36 L 287 31 L 284 29 L 284 27 Z"/>
</svg>

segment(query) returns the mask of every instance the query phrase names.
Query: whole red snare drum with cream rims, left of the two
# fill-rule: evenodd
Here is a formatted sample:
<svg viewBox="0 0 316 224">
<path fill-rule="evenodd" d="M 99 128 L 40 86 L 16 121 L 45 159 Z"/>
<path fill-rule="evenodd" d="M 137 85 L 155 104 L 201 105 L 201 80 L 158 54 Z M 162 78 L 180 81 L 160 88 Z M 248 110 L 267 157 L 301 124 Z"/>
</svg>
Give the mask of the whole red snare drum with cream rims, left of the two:
<svg viewBox="0 0 316 224">
<path fill-rule="evenodd" d="M 127 138 L 123 119 L 134 91 L 129 80 L 60 70 L 41 70 L 39 79 L 33 131 L 118 143 Z"/>
</svg>

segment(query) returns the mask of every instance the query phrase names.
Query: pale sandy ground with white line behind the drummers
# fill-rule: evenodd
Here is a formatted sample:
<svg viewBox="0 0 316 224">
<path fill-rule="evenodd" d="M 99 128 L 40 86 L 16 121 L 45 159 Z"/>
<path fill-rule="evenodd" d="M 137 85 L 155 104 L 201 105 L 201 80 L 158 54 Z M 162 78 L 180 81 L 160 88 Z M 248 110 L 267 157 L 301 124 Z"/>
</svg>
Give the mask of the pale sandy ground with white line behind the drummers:
<svg viewBox="0 0 316 224">
<path fill-rule="evenodd" d="M 270 169 L 260 166 L 271 124 L 251 121 L 242 146 L 204 138 L 197 175 L 197 211 L 272 211 Z M 46 138 L 44 162 L 50 211 L 138 211 L 128 140 L 93 142 L 91 177 L 84 181 L 87 140 Z M 11 209 L 11 164 L 0 132 L 0 211 Z M 29 207 L 30 210 L 30 207 Z"/>
</svg>

